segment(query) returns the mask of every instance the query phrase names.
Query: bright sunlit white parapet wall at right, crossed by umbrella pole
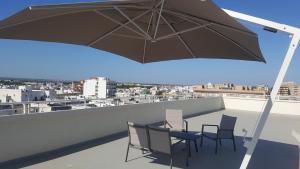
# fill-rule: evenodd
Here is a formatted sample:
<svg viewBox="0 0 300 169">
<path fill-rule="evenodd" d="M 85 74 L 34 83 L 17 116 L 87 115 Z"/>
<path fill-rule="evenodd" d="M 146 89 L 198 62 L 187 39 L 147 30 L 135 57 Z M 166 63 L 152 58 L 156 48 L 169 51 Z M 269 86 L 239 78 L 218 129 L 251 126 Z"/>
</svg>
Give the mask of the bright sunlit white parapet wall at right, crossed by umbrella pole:
<svg viewBox="0 0 300 169">
<path fill-rule="evenodd" d="M 245 97 L 223 97 L 226 109 L 245 110 L 261 113 L 266 99 Z M 273 114 L 299 115 L 300 101 L 277 100 L 271 110 Z"/>
</svg>

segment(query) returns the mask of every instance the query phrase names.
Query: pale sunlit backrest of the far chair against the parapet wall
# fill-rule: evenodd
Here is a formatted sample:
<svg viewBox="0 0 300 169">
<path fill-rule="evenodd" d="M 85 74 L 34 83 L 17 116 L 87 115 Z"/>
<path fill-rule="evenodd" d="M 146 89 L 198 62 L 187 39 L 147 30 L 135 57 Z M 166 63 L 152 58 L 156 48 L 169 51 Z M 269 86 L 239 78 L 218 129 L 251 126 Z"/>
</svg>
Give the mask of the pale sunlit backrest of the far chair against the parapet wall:
<svg viewBox="0 0 300 169">
<path fill-rule="evenodd" d="M 182 131 L 184 129 L 182 110 L 166 109 L 167 128 Z"/>
</svg>

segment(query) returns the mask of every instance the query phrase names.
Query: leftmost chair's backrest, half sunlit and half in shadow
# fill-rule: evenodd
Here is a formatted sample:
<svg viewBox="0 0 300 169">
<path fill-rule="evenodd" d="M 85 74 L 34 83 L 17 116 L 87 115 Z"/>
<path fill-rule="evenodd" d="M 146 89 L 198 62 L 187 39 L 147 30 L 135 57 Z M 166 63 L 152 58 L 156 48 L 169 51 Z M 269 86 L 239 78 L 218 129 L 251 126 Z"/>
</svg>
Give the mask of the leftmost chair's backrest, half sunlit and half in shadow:
<svg viewBox="0 0 300 169">
<path fill-rule="evenodd" d="M 129 144 L 140 148 L 149 148 L 148 131 L 145 125 L 128 122 Z"/>
</svg>

